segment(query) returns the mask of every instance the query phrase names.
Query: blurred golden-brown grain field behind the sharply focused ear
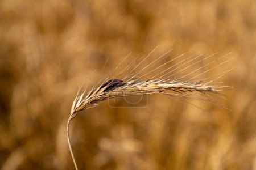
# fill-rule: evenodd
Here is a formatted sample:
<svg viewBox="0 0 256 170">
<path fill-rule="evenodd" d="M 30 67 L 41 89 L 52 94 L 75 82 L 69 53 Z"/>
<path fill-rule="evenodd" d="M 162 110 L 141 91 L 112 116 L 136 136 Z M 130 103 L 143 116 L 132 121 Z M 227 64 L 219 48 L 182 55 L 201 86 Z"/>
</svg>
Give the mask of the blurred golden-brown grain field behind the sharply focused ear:
<svg viewBox="0 0 256 170">
<path fill-rule="evenodd" d="M 232 52 L 221 66 L 234 67 L 221 79 L 232 111 L 164 95 L 147 107 L 101 102 L 71 122 L 78 167 L 256 169 L 253 0 L 0 1 L 2 169 L 74 169 L 65 129 L 79 86 L 101 79 L 108 58 L 106 72 L 156 46 L 152 58 L 173 48 L 169 60 Z"/>
</svg>

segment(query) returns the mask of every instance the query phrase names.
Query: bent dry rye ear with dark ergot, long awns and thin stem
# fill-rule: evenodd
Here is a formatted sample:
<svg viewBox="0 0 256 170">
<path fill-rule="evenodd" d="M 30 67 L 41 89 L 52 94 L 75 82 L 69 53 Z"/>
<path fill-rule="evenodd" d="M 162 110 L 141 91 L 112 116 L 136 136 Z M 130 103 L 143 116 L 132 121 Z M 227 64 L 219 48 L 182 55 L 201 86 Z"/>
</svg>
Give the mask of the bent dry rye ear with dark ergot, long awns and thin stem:
<svg viewBox="0 0 256 170">
<path fill-rule="evenodd" d="M 162 58 L 163 56 L 161 56 L 159 58 Z M 208 56 L 206 58 L 209 58 L 212 56 Z M 142 60 L 142 62 L 146 58 L 144 58 Z M 154 62 L 158 61 L 159 58 L 156 59 Z M 195 60 L 195 58 L 197 58 L 197 57 L 193 57 L 186 63 Z M 206 59 L 206 58 L 204 58 L 204 59 Z M 183 63 L 183 65 L 184 65 L 184 61 L 185 60 L 179 62 L 178 64 L 181 65 L 181 63 Z M 226 61 L 218 64 L 215 67 L 219 67 L 220 65 L 222 65 L 228 61 L 229 60 L 226 60 Z M 140 65 L 142 62 L 140 62 L 138 65 Z M 210 63 L 213 63 L 213 62 L 210 62 Z M 195 64 L 195 63 L 197 63 L 197 62 L 194 62 L 193 64 Z M 188 67 L 191 67 L 193 64 L 190 64 Z M 136 67 L 138 67 L 138 65 Z M 150 65 L 152 65 L 152 63 Z M 148 67 L 150 65 L 147 65 L 146 67 Z M 209 65 L 209 63 L 207 65 Z M 162 66 L 160 66 L 160 67 L 162 67 Z M 203 67 L 205 67 L 205 66 L 203 66 Z M 144 69 L 146 67 L 144 67 Z M 185 67 L 185 69 L 187 69 L 188 67 Z M 157 67 L 156 69 L 158 69 L 158 68 L 159 67 Z M 151 71 L 155 71 L 156 69 L 151 70 Z M 129 75 L 133 75 L 132 78 L 134 78 L 136 75 L 138 75 L 138 73 L 141 72 L 141 71 L 139 71 L 137 73 L 132 73 L 133 70 L 129 73 Z M 160 74 L 163 73 L 164 75 L 167 75 L 176 69 L 173 69 L 166 73 L 167 70 L 162 71 Z M 211 69 L 208 69 L 204 73 L 208 72 L 209 70 L 211 70 Z M 230 71 L 230 70 L 228 70 L 228 71 Z M 226 73 L 228 71 L 225 71 L 224 73 Z M 204 74 L 204 73 L 201 73 L 201 74 Z M 221 75 L 218 76 L 218 78 L 220 78 L 224 73 L 221 73 Z M 147 75 L 147 74 L 144 74 L 144 75 Z M 160 75 L 160 74 L 158 74 L 158 75 Z M 191 74 L 191 73 L 189 73 L 189 74 Z M 76 117 L 78 112 L 88 109 L 88 108 L 91 108 L 91 107 L 94 107 L 100 101 L 113 99 L 115 97 L 141 95 L 141 94 L 166 94 L 166 95 L 170 95 L 173 97 L 178 97 L 179 99 L 184 99 L 184 98 L 188 98 L 188 97 L 193 98 L 193 97 L 197 96 L 195 94 L 195 92 L 197 92 L 197 93 L 199 92 L 199 94 L 202 94 L 202 95 L 195 97 L 196 99 L 205 100 L 205 101 L 209 101 L 214 104 L 221 105 L 221 103 L 218 100 L 214 99 L 214 97 L 210 96 L 209 94 L 220 94 L 220 88 L 226 87 L 226 86 L 213 85 L 212 83 L 216 79 L 211 80 L 209 82 L 205 82 L 205 80 L 207 80 L 209 78 L 201 79 L 199 81 L 193 81 L 193 79 L 195 79 L 198 75 L 191 79 L 188 79 L 188 80 L 181 80 L 189 74 L 186 74 L 186 75 L 182 76 L 181 78 L 175 79 L 175 80 L 171 80 L 171 76 L 169 76 L 168 78 L 162 78 L 163 76 L 158 76 L 158 75 L 156 75 L 156 76 L 158 76 L 158 78 L 155 78 L 155 79 L 131 80 L 132 78 L 130 78 L 128 80 L 125 80 L 125 78 L 127 77 L 127 76 L 125 76 L 125 78 L 123 78 L 123 79 L 110 79 L 108 81 L 105 80 L 105 82 L 103 82 L 101 84 L 101 86 L 98 86 L 98 87 L 94 86 L 92 88 L 92 90 L 90 90 L 87 94 L 85 93 L 86 90 L 82 91 L 81 94 L 80 94 L 80 92 L 78 92 L 75 100 L 73 101 L 73 105 L 71 108 L 71 114 L 70 114 L 70 117 L 68 119 L 68 124 L 67 124 L 68 145 L 69 145 L 69 150 L 72 155 L 73 162 L 75 164 L 75 168 L 78 169 L 77 165 L 76 165 L 75 157 L 73 156 L 71 144 L 69 141 L 69 123 L 74 117 Z M 201 75 L 201 74 L 199 74 L 199 75 Z M 143 77 L 143 76 L 141 76 L 141 77 Z M 154 77 L 152 76 L 152 78 L 154 78 Z"/>
</svg>

